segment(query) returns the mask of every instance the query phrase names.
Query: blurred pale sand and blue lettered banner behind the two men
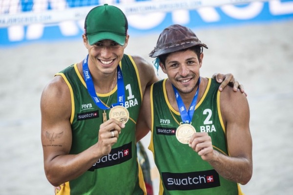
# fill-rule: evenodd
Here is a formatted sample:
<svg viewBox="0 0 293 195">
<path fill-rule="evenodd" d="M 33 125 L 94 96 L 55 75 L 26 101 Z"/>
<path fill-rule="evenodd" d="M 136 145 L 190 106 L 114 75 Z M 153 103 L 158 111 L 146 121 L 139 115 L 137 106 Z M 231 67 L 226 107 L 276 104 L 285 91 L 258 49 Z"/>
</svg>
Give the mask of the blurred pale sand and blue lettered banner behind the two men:
<svg viewBox="0 0 293 195">
<path fill-rule="evenodd" d="M 232 73 L 248 94 L 253 176 L 243 192 L 291 194 L 293 0 L 0 0 L 0 194 L 54 194 L 43 171 L 42 89 L 55 73 L 84 59 L 84 18 L 104 3 L 126 14 L 126 54 L 149 62 L 164 28 L 179 23 L 194 30 L 209 47 L 201 75 Z M 149 139 L 142 143 L 157 194 Z"/>
</svg>

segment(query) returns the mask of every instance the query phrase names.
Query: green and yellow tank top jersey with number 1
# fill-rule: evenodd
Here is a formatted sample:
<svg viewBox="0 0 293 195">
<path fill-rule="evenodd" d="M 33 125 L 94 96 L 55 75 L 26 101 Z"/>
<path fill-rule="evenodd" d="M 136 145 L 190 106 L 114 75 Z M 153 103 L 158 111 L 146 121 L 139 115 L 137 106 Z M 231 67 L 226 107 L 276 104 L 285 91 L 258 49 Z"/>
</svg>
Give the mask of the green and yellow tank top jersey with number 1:
<svg viewBox="0 0 293 195">
<path fill-rule="evenodd" d="M 82 176 L 66 182 L 64 195 L 146 195 L 142 171 L 137 162 L 135 139 L 135 125 L 142 102 L 140 78 L 131 56 L 124 55 L 119 65 L 123 74 L 125 107 L 129 111 L 129 120 L 117 143 L 112 146 L 110 154 L 100 158 Z M 70 154 L 79 154 L 98 141 L 104 110 L 100 109 L 89 95 L 77 64 L 56 75 L 62 76 L 70 89 Z M 107 106 L 117 103 L 117 85 L 110 93 L 97 96 L 104 104 L 108 102 Z M 105 110 L 107 118 L 109 111 L 110 109 Z"/>
</svg>

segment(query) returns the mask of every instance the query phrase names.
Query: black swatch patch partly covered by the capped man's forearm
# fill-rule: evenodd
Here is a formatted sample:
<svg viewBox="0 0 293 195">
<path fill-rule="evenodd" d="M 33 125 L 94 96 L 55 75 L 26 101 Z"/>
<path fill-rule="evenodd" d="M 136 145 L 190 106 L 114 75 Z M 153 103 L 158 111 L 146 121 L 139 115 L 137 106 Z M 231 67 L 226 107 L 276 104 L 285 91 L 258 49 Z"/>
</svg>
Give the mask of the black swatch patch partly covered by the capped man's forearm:
<svg viewBox="0 0 293 195">
<path fill-rule="evenodd" d="M 118 148 L 112 148 L 111 152 L 108 155 L 100 158 L 95 164 L 93 164 L 93 166 L 88 171 L 95 171 L 95 169 L 121 164 L 131 159 L 131 145 L 132 142 Z"/>
</svg>

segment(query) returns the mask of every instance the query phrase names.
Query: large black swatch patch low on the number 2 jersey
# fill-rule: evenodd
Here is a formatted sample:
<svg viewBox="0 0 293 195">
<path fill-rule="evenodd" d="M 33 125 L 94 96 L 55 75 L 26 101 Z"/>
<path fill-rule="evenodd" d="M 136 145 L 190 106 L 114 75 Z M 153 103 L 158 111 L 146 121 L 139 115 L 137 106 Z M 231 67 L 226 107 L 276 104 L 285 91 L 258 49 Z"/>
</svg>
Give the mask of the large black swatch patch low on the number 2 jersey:
<svg viewBox="0 0 293 195">
<path fill-rule="evenodd" d="M 219 174 L 215 170 L 189 173 L 162 173 L 167 190 L 197 190 L 220 186 Z"/>
</svg>

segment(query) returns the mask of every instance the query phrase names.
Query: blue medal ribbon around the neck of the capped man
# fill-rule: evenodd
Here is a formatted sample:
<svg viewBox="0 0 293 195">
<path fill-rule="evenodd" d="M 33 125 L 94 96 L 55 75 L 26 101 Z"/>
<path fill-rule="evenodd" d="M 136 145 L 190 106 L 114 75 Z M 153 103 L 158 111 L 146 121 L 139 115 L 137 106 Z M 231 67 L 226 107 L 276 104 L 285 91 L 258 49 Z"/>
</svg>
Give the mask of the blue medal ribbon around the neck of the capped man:
<svg viewBox="0 0 293 195">
<path fill-rule="evenodd" d="M 96 94 L 94 82 L 90 75 L 87 61 L 88 61 L 88 55 L 86 56 L 83 62 L 84 81 L 86 84 L 87 91 L 89 95 L 91 96 L 91 98 L 94 100 L 95 104 L 103 110 L 109 109 L 110 107 L 114 107 L 116 105 L 124 106 L 125 91 L 124 91 L 124 82 L 123 82 L 122 71 L 120 66 L 119 65 L 117 66 L 117 103 L 114 103 L 110 107 L 107 107 L 101 102 L 101 100 Z"/>
</svg>

